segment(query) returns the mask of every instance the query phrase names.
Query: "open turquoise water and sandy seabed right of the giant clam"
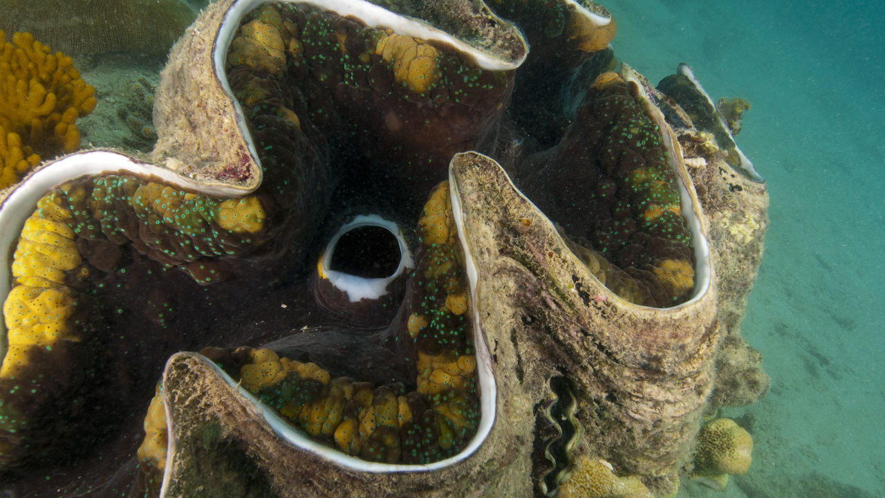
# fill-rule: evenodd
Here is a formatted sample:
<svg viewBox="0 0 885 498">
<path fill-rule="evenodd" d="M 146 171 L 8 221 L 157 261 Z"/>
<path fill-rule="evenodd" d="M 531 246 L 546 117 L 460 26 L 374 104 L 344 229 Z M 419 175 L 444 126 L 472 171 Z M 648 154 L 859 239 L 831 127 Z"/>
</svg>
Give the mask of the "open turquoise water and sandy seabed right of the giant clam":
<svg viewBox="0 0 885 498">
<path fill-rule="evenodd" d="M 885 496 L 885 6 L 609 1 L 615 53 L 650 81 L 689 63 L 745 97 L 738 144 L 766 177 L 771 225 L 743 336 L 771 392 L 750 472 L 696 496 Z"/>
</svg>

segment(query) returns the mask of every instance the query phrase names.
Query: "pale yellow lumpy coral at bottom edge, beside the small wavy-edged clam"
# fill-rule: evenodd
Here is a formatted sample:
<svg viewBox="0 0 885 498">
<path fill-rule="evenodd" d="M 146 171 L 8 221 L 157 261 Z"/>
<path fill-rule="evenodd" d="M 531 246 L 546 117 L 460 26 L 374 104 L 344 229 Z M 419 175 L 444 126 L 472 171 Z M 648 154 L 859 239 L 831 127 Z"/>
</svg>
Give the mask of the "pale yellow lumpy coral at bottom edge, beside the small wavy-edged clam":
<svg viewBox="0 0 885 498">
<path fill-rule="evenodd" d="M 634 476 L 614 475 L 612 464 L 581 455 L 571 476 L 559 486 L 557 498 L 653 498 Z"/>
</svg>

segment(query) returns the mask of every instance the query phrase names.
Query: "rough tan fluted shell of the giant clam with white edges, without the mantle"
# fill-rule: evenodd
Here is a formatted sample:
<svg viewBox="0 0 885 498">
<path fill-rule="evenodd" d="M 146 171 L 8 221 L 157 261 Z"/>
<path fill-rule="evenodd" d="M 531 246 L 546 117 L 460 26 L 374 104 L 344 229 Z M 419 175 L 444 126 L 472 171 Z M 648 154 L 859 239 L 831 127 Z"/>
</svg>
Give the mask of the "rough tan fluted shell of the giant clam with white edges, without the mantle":
<svg viewBox="0 0 885 498">
<path fill-rule="evenodd" d="M 176 44 L 158 87 L 159 139 L 150 162 L 119 152 L 82 152 L 40 168 L 7 192 L 0 209 L 0 251 L 7 261 L 36 200 L 75 176 L 125 170 L 218 196 L 258 188 L 258 153 L 224 76 L 224 59 L 243 13 L 264 3 L 220 0 Z M 477 46 L 473 35 L 453 37 L 443 32 L 448 25 L 428 27 L 374 4 L 311 3 L 349 4 L 355 10 L 348 13 L 371 24 L 424 39 L 437 36 L 489 69 L 512 69 L 527 54 L 519 30 L 499 19 L 493 24 L 505 26 L 492 37 L 495 43 Z M 491 19 L 484 9 L 473 15 L 454 19 Z M 730 170 L 720 167 L 721 158 L 705 158 L 706 166 L 689 175 L 680 140 L 690 141 L 685 134 L 694 132 L 677 135 L 644 78 L 626 65 L 621 74 L 635 84 L 670 152 L 668 166 L 677 178 L 696 261 L 688 300 L 655 308 L 620 299 L 573 254 L 504 168 L 479 152 L 460 153 L 450 162 L 449 188 L 479 371 L 481 420 L 473 439 L 435 463 L 366 462 L 293 429 L 203 356 L 180 353 L 163 374 L 170 436 L 161 495 L 223 494 L 231 486 L 305 497 L 554 493 L 567 471 L 547 475 L 547 457 L 556 456 L 546 451 L 550 440 L 536 424 L 539 416 L 550 419 L 558 397 L 566 401 L 562 385 L 568 387 L 568 406 L 561 411 L 573 428 L 559 430 L 569 440 L 558 453 L 566 461 L 554 462 L 556 468 L 594 455 L 619 475 L 640 476 L 657 495 L 673 494 L 714 389 L 720 338 L 737 333 L 755 279 L 767 195 L 764 183 L 723 173 Z M 8 268 L 0 271 L 0 292 L 9 291 L 9 280 Z M 553 378 L 559 379 L 556 389 Z M 533 454 L 539 445 L 543 461 Z"/>
</svg>

